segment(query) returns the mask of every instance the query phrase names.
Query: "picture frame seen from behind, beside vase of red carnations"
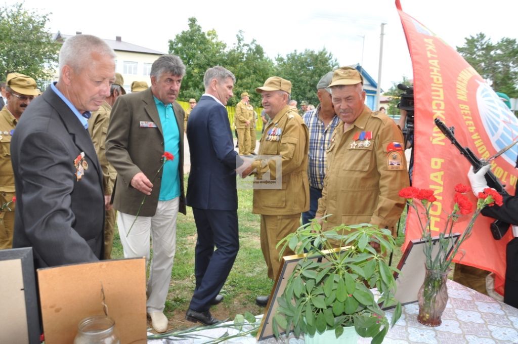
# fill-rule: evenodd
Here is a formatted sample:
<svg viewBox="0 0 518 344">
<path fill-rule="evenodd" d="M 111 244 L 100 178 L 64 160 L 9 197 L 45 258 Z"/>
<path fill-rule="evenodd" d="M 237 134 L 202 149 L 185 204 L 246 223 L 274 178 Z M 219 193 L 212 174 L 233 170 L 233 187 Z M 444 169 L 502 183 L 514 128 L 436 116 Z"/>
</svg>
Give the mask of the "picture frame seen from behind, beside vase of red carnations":
<svg viewBox="0 0 518 344">
<path fill-rule="evenodd" d="M 453 240 L 450 240 L 448 254 L 450 254 L 454 243 L 457 242 L 460 236 L 460 233 L 453 233 L 451 235 Z M 445 237 L 450 238 L 448 235 Z M 432 255 L 435 255 L 439 250 L 439 236 L 434 236 L 431 238 L 431 240 L 433 241 L 434 245 Z M 426 241 L 422 239 L 411 240 L 408 243 L 405 252 L 401 256 L 399 264 L 397 265 L 397 268 L 401 271 L 401 274 L 394 273 L 397 286 L 395 298 L 401 303 L 401 305 L 411 304 L 413 302 L 417 302 L 418 300 L 418 292 L 421 288 L 421 285 L 423 285 L 424 275 L 426 273 L 426 256 L 424 255 L 423 251 L 423 245 L 425 243 Z M 395 306 L 395 304 L 384 305 L 383 309 L 390 309 Z"/>
</svg>

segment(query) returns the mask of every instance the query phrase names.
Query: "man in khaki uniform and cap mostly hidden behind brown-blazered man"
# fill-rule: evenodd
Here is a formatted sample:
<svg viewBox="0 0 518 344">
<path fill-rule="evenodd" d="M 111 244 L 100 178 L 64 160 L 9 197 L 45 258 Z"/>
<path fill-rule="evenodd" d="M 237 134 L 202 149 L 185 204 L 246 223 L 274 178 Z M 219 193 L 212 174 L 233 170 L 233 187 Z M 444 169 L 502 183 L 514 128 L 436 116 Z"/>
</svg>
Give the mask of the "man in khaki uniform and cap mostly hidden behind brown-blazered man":
<svg viewBox="0 0 518 344">
<path fill-rule="evenodd" d="M 108 124 L 110 123 L 111 107 L 115 100 L 123 94 L 124 79 L 120 73 L 115 74 L 115 82 L 111 85 L 110 96 L 107 97 L 100 108 L 92 112 L 92 116 L 88 119 L 88 133 L 92 137 L 95 152 L 99 158 L 100 166 L 103 170 L 103 190 L 105 204 L 105 221 L 104 221 L 104 259 L 111 259 L 111 249 L 113 247 L 113 231 L 115 229 L 116 210 L 112 208 L 111 193 L 117 171 L 106 159 L 106 133 L 108 133 Z"/>
</svg>

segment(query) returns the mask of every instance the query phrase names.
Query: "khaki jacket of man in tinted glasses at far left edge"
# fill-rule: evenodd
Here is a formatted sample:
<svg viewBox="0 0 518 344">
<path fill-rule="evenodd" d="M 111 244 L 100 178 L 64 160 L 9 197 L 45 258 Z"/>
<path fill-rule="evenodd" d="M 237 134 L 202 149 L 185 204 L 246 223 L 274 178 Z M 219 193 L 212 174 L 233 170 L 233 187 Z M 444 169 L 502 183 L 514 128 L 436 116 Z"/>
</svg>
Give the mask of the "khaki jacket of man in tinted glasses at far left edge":
<svg viewBox="0 0 518 344">
<path fill-rule="evenodd" d="M 0 206 L 11 202 L 15 196 L 15 174 L 11 165 L 11 137 L 15 130 L 17 119 L 4 106 L 0 110 Z M 15 209 L 15 203 L 9 205 Z M 4 211 L 9 211 L 5 209 Z"/>
</svg>

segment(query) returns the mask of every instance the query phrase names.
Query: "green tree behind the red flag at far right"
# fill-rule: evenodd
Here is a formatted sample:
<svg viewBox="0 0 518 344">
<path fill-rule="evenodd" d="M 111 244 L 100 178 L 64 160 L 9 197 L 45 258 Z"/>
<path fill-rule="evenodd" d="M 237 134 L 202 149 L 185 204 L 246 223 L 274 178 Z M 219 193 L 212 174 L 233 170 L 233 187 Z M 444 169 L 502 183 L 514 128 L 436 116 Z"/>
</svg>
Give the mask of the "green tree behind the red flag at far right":
<svg viewBox="0 0 518 344">
<path fill-rule="evenodd" d="M 457 51 L 484 78 L 493 82 L 495 91 L 518 97 L 518 44 L 516 39 L 504 37 L 496 44 L 483 33 L 465 38 Z"/>
</svg>

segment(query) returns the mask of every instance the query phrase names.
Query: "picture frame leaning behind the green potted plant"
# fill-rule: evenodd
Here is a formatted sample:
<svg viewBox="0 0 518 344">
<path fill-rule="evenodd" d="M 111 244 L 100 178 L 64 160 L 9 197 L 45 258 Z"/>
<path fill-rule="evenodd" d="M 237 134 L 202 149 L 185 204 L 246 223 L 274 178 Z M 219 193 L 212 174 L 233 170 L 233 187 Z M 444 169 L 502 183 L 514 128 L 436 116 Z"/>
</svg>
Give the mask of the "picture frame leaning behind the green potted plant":
<svg viewBox="0 0 518 344">
<path fill-rule="evenodd" d="M 335 252 L 348 250 L 350 246 L 336 248 Z M 327 253 L 329 250 L 323 251 L 323 253 Z M 332 252 L 332 251 L 331 251 Z M 279 304 L 277 303 L 277 298 L 282 296 L 284 289 L 286 289 L 287 280 L 290 278 L 293 270 L 297 266 L 300 260 L 303 260 L 307 254 L 294 254 L 287 255 L 282 257 L 281 268 L 279 274 L 277 275 L 277 280 L 275 281 L 274 288 L 272 288 L 270 293 L 270 298 L 268 299 L 268 304 L 266 305 L 263 319 L 261 320 L 261 325 L 257 331 L 257 340 L 267 339 L 274 336 L 274 329 L 272 327 L 272 319 L 275 316 L 277 311 L 277 307 Z M 322 255 L 314 255 L 310 257 L 311 260 L 314 261 L 322 261 Z M 279 332 L 283 334 L 284 332 Z"/>
</svg>

